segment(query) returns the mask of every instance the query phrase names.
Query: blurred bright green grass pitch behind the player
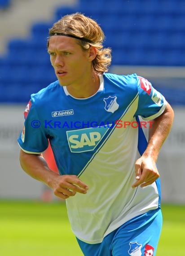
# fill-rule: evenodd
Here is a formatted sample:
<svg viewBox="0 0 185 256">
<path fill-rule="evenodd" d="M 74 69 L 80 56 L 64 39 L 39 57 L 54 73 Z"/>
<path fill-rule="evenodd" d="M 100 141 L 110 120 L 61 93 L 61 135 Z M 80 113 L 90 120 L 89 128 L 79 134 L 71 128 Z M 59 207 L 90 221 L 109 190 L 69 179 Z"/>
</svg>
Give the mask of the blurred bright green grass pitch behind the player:
<svg viewBox="0 0 185 256">
<path fill-rule="evenodd" d="M 157 256 L 185 255 L 185 206 L 164 205 Z M 0 256 L 83 256 L 62 202 L 0 201 Z"/>
</svg>

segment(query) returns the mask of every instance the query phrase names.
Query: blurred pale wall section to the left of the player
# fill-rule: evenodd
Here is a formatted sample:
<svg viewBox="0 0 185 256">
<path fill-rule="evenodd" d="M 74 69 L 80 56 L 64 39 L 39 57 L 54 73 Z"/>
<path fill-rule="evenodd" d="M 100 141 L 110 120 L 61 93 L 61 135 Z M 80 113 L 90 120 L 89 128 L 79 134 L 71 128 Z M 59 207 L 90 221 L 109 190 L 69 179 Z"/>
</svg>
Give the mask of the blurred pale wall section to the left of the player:
<svg viewBox="0 0 185 256">
<path fill-rule="evenodd" d="M 44 185 L 22 171 L 17 137 L 25 106 L 0 106 L 0 198 L 40 198 Z"/>
</svg>

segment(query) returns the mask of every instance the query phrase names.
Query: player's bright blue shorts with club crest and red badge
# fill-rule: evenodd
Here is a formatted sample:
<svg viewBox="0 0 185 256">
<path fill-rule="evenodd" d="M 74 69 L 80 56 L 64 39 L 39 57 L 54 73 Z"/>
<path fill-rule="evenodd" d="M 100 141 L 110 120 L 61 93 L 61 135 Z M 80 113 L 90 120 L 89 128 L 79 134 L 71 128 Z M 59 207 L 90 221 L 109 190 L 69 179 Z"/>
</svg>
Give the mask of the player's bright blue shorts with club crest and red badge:
<svg viewBox="0 0 185 256">
<path fill-rule="evenodd" d="M 124 223 L 101 243 L 77 238 L 84 256 L 155 256 L 162 229 L 161 209 L 150 210 Z"/>
</svg>

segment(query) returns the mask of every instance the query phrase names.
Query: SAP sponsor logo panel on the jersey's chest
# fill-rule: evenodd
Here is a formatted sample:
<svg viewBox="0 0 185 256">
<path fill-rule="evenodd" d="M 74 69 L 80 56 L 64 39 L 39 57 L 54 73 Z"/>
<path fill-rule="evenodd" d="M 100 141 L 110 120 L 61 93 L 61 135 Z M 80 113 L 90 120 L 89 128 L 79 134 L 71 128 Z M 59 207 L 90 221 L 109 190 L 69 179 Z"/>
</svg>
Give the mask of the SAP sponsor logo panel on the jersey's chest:
<svg viewBox="0 0 185 256">
<path fill-rule="evenodd" d="M 100 128 L 66 131 L 70 151 L 80 153 L 94 150 L 108 130 L 108 125 L 106 125 Z"/>
</svg>

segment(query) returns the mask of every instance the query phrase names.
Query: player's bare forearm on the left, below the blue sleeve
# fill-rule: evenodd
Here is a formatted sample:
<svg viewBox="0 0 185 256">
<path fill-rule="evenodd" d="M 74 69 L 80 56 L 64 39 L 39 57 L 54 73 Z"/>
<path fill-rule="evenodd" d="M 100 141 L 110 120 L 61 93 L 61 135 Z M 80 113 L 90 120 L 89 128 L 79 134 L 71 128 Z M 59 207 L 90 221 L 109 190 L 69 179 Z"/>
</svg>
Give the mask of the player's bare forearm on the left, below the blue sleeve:
<svg viewBox="0 0 185 256">
<path fill-rule="evenodd" d="M 57 173 L 52 172 L 43 157 L 37 154 L 27 154 L 20 151 L 20 163 L 22 169 L 31 177 L 38 181 L 42 181 L 51 187 L 51 182 Z"/>
</svg>

